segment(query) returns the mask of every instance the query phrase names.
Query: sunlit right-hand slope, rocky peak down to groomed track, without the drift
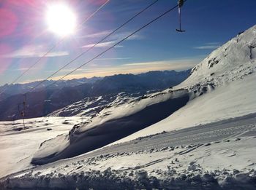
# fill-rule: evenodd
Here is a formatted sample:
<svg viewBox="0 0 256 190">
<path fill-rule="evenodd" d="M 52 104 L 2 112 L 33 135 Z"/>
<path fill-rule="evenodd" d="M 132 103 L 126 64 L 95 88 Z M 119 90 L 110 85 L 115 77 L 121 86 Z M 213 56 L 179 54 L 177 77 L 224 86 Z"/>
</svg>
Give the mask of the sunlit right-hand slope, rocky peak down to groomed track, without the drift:
<svg viewBox="0 0 256 190">
<path fill-rule="evenodd" d="M 212 52 L 174 87 L 195 97 L 166 119 L 117 143 L 256 112 L 256 25 Z"/>
</svg>

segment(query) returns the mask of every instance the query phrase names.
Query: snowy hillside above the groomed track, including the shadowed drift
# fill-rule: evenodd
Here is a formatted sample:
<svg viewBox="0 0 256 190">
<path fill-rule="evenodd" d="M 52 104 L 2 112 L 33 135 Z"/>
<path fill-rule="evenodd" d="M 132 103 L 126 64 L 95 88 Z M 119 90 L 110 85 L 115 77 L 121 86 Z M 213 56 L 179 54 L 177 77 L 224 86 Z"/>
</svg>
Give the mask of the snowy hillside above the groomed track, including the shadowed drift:
<svg viewBox="0 0 256 190">
<path fill-rule="evenodd" d="M 51 146 L 49 151 L 42 145 L 32 163 L 74 157 L 138 130 L 118 142 L 255 112 L 255 47 L 256 25 L 212 52 L 183 83 L 104 108 L 89 122 L 75 125 L 63 149 Z"/>
</svg>

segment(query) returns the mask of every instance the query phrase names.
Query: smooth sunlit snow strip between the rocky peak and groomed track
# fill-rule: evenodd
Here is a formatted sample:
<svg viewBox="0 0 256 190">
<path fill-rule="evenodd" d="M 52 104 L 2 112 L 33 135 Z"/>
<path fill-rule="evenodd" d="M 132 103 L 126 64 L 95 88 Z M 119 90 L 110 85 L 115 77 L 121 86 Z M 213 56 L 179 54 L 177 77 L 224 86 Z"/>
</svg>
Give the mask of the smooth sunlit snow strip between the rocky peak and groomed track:
<svg viewBox="0 0 256 190">
<path fill-rule="evenodd" d="M 212 92 L 201 95 L 200 98 L 190 100 L 186 106 L 166 119 L 135 132 L 127 138 L 118 140 L 116 143 L 155 134 L 163 130 L 178 130 L 255 113 L 255 81 L 256 75 L 252 75 L 246 76 L 243 80 L 218 87 Z"/>
</svg>

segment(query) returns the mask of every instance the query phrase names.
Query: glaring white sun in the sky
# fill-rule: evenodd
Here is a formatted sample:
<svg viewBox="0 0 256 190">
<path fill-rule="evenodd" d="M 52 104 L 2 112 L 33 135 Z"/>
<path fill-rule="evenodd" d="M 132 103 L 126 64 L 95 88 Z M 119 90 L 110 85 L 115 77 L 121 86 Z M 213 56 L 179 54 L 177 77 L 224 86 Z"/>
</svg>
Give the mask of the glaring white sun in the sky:
<svg viewBox="0 0 256 190">
<path fill-rule="evenodd" d="M 58 36 L 69 36 L 75 32 L 77 18 L 67 4 L 50 4 L 46 11 L 48 30 Z"/>
</svg>

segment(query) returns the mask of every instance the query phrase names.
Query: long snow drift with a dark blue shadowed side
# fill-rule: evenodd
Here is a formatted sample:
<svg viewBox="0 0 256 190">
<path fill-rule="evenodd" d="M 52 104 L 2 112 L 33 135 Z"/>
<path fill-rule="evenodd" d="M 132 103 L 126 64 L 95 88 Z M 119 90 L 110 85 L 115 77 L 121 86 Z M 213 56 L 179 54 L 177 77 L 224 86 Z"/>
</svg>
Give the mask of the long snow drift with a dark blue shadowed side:
<svg viewBox="0 0 256 190">
<path fill-rule="evenodd" d="M 188 101 L 187 90 L 169 90 L 123 106 L 105 108 L 91 122 L 75 125 L 68 137 L 59 136 L 42 143 L 31 163 L 43 165 L 98 149 L 165 119 Z M 56 141 L 66 146 L 61 149 Z"/>
</svg>

